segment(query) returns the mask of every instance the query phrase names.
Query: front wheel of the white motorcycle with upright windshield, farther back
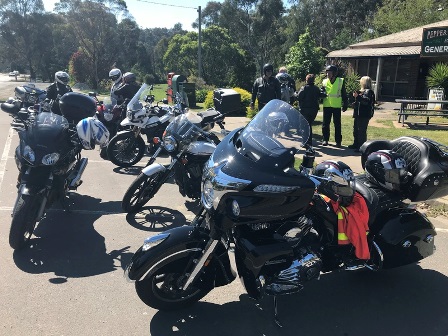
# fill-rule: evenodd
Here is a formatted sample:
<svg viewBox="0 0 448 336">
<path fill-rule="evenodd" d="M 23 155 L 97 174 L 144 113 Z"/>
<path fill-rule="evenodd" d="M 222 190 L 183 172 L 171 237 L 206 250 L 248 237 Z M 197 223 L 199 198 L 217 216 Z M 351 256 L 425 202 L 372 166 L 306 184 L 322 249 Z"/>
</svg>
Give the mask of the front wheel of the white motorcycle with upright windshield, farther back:
<svg viewBox="0 0 448 336">
<path fill-rule="evenodd" d="M 146 144 L 141 136 L 132 133 L 117 134 L 107 145 L 109 160 L 119 167 L 131 167 L 138 163 L 145 154 Z"/>
</svg>

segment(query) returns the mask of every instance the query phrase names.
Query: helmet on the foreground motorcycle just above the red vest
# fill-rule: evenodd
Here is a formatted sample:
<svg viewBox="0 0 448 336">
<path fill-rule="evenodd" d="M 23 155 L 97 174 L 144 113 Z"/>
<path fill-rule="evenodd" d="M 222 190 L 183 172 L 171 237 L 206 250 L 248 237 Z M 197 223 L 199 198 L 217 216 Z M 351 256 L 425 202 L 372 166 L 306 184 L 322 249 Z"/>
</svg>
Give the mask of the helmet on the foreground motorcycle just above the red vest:
<svg viewBox="0 0 448 336">
<path fill-rule="evenodd" d="M 342 161 L 326 160 L 314 168 L 314 175 L 328 179 L 319 186 L 320 193 L 329 197 L 336 194 L 343 206 L 352 202 L 356 181 L 352 169 L 347 164 Z"/>
</svg>

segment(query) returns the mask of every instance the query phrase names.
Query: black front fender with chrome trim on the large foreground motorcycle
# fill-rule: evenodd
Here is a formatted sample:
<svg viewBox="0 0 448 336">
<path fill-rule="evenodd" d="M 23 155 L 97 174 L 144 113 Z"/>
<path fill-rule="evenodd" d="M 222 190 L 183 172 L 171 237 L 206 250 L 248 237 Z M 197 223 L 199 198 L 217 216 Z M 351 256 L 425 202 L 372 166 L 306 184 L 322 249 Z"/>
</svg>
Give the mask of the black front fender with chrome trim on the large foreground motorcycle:
<svg viewBox="0 0 448 336">
<path fill-rule="evenodd" d="M 158 239 L 162 240 L 158 245 L 146 251 L 143 245 L 135 252 L 125 270 L 125 276 L 129 281 L 142 280 L 173 260 L 201 251 L 207 244 L 209 235 L 193 226 L 181 226 L 151 238 L 152 241 Z M 223 244 L 218 245 L 215 255 L 216 258 L 213 259 L 215 262 L 207 266 L 204 278 L 210 282 L 214 281 L 214 286 L 223 286 L 235 279 L 235 272 L 231 268 L 229 255 Z"/>
</svg>

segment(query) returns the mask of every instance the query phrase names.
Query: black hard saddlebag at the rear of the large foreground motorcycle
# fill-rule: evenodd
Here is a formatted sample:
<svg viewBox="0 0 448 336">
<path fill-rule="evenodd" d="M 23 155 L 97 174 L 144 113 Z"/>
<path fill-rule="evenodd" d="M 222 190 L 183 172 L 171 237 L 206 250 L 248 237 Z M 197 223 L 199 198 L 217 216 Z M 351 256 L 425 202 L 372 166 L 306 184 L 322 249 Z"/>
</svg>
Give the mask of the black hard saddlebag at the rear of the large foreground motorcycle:
<svg viewBox="0 0 448 336">
<path fill-rule="evenodd" d="M 383 268 L 412 264 L 434 253 L 437 233 L 434 225 L 420 212 L 410 209 L 390 211 L 389 216 L 378 221 L 384 225 L 374 240 L 383 253 Z"/>
</svg>

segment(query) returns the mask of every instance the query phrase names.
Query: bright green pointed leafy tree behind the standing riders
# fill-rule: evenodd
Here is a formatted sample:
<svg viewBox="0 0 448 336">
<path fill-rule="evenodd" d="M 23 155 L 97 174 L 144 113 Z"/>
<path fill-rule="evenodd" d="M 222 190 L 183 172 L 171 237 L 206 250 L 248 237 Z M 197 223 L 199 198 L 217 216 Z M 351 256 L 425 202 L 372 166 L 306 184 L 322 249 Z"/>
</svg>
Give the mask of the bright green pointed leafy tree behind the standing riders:
<svg viewBox="0 0 448 336">
<path fill-rule="evenodd" d="M 311 38 L 307 29 L 300 35 L 299 41 L 289 49 L 286 54 L 286 66 L 293 78 L 304 80 L 309 73 L 318 73 L 322 70 L 325 58 L 322 56 L 320 48 Z"/>
</svg>

